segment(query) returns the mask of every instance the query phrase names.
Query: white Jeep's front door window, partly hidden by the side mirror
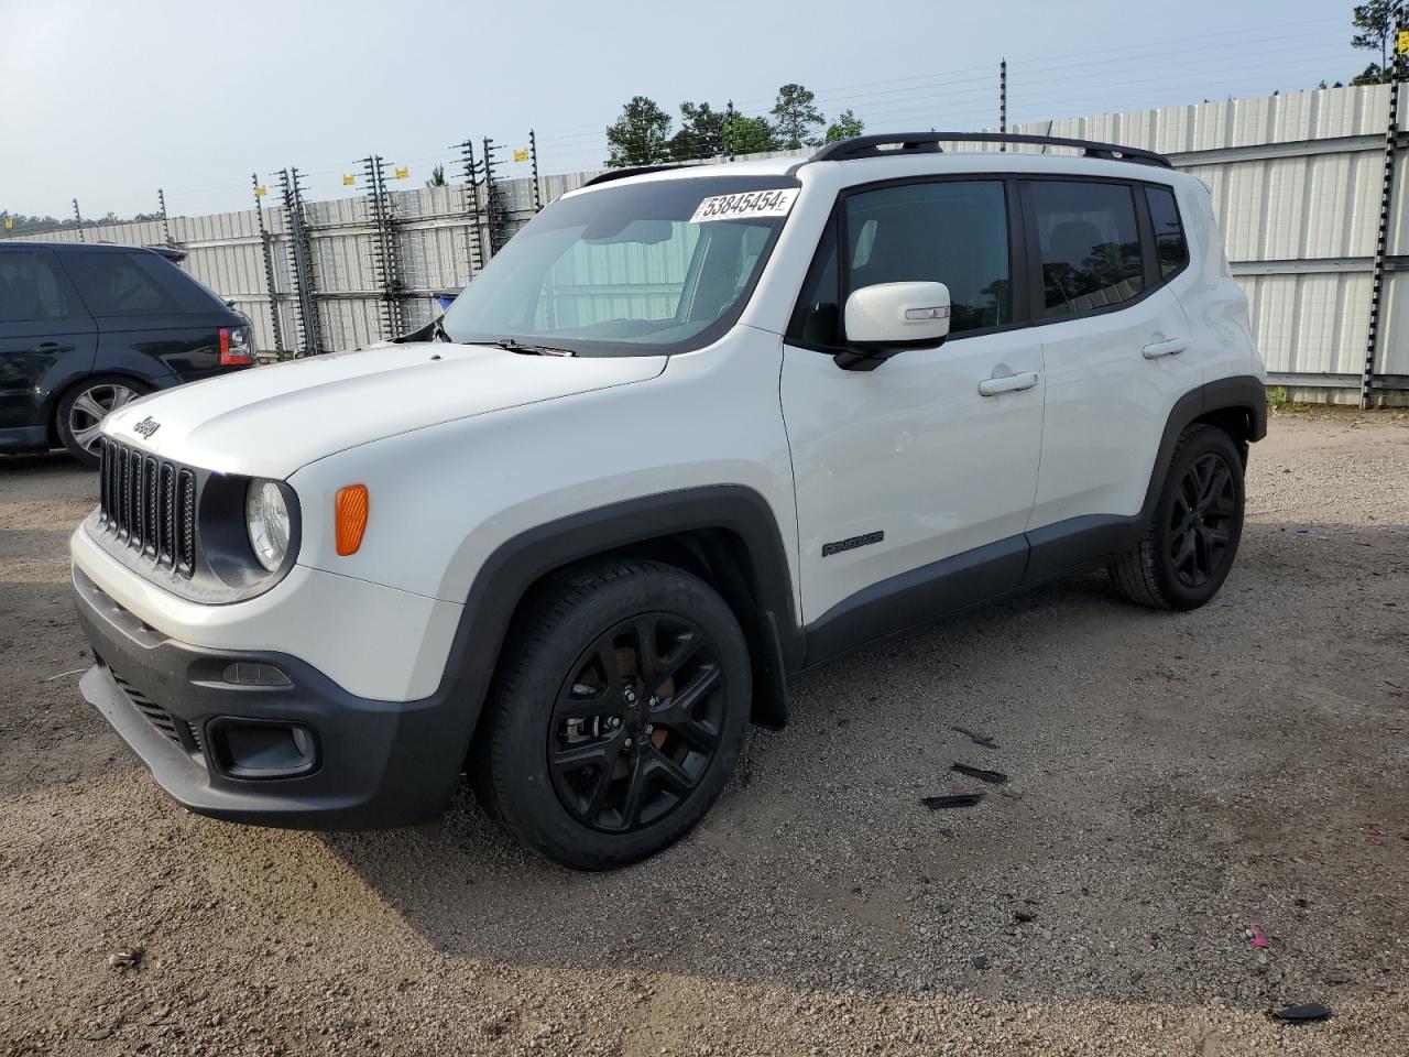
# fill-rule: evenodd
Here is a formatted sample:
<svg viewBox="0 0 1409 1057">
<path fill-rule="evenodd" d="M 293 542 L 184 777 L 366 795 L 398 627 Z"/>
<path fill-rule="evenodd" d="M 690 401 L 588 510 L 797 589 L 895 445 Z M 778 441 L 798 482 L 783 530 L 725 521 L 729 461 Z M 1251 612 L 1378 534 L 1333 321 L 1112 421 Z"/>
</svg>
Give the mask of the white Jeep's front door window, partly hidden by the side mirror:
<svg viewBox="0 0 1409 1057">
<path fill-rule="evenodd" d="M 1013 320 L 1007 199 L 1000 180 L 933 180 L 852 194 L 847 290 L 893 282 L 950 288 L 950 333 Z"/>
</svg>

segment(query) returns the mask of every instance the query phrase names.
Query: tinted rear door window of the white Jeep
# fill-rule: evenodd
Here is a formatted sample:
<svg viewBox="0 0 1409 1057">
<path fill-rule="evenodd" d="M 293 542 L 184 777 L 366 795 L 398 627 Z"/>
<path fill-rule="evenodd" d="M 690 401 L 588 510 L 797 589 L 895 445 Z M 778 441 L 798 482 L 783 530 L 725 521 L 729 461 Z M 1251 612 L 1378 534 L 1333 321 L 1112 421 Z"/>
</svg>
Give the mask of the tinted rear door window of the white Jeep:
<svg viewBox="0 0 1409 1057">
<path fill-rule="evenodd" d="M 1043 268 L 1044 314 L 1082 316 L 1144 292 L 1133 189 L 1124 183 L 1027 183 Z"/>
</svg>

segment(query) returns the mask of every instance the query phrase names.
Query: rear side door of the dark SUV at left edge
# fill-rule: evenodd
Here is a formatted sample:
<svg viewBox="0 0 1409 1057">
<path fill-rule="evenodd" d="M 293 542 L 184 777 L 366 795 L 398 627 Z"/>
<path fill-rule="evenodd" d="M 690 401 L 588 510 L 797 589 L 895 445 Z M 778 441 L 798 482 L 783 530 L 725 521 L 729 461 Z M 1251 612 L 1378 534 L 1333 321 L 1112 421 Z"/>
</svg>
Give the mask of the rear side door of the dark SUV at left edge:
<svg viewBox="0 0 1409 1057">
<path fill-rule="evenodd" d="M 39 247 L 0 247 L 0 441 L 42 447 L 69 383 L 93 369 L 97 327 Z"/>
</svg>

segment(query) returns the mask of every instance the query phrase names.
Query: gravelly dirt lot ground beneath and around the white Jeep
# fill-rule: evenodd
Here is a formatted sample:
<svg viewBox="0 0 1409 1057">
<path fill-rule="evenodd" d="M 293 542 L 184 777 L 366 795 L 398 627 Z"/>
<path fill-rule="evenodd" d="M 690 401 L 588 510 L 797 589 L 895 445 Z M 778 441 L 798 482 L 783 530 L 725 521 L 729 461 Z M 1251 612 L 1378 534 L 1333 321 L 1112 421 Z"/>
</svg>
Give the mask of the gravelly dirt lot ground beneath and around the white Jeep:
<svg viewBox="0 0 1409 1057">
<path fill-rule="evenodd" d="M 579 875 L 468 799 L 173 806 L 77 696 L 93 478 L 0 461 L 0 1053 L 1406 1054 L 1409 423 L 1275 419 L 1248 495 L 1205 610 L 1098 575 L 834 664 L 690 839 Z M 920 806 L 957 760 L 1012 781 Z"/>
</svg>

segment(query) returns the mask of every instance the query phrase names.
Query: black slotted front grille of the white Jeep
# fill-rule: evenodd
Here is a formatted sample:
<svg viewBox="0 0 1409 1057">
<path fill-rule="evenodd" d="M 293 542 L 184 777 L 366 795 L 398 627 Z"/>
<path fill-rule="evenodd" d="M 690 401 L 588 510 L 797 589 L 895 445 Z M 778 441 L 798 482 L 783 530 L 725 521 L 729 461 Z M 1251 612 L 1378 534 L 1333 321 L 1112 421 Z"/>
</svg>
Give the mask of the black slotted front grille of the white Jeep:
<svg viewBox="0 0 1409 1057">
<path fill-rule="evenodd" d="M 103 438 L 101 524 L 183 576 L 196 571 L 196 474 Z"/>
</svg>

